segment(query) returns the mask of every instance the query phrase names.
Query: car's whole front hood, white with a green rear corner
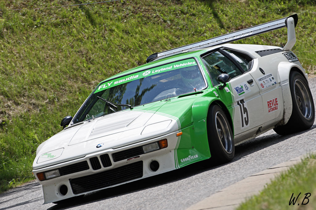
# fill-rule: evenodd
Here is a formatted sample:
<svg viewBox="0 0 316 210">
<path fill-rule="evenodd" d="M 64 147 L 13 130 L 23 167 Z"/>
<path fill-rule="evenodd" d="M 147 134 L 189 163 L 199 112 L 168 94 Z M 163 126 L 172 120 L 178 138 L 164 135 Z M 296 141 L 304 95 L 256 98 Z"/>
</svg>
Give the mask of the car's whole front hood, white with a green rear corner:
<svg viewBox="0 0 316 210">
<path fill-rule="evenodd" d="M 193 122 L 195 100 L 196 97 L 172 98 L 69 126 L 39 146 L 33 169 L 177 131 Z M 100 143 L 103 146 L 97 148 Z"/>
</svg>

